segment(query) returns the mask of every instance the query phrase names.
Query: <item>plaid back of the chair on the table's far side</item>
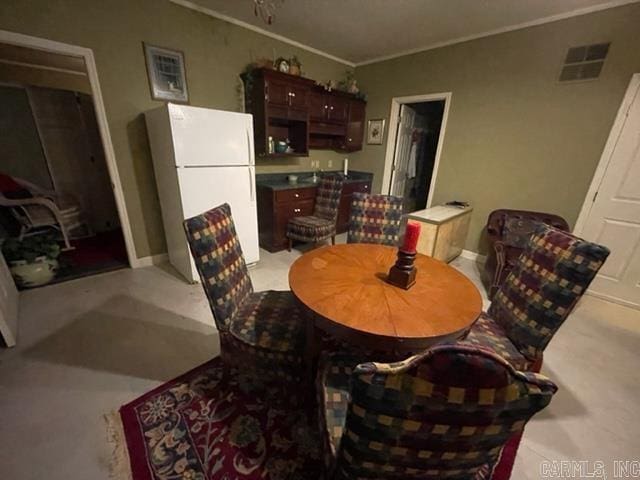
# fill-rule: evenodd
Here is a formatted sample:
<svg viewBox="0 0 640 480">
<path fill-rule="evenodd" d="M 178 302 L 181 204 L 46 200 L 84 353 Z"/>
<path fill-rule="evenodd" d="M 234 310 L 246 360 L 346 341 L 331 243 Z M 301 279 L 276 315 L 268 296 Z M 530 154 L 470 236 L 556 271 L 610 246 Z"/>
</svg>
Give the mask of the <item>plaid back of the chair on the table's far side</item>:
<svg viewBox="0 0 640 480">
<path fill-rule="evenodd" d="M 402 198 L 391 195 L 354 193 L 347 243 L 398 244 Z"/>
</svg>

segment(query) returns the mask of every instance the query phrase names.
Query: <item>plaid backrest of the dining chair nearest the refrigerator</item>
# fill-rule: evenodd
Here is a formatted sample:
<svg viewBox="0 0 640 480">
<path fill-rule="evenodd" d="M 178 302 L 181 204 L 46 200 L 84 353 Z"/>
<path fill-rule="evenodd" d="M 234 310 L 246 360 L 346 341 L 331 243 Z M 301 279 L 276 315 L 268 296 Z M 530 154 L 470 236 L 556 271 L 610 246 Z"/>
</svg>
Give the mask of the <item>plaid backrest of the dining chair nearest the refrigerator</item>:
<svg viewBox="0 0 640 480">
<path fill-rule="evenodd" d="M 221 332 L 253 286 L 236 234 L 231 207 L 220 205 L 184 222 L 191 255 Z"/>
</svg>

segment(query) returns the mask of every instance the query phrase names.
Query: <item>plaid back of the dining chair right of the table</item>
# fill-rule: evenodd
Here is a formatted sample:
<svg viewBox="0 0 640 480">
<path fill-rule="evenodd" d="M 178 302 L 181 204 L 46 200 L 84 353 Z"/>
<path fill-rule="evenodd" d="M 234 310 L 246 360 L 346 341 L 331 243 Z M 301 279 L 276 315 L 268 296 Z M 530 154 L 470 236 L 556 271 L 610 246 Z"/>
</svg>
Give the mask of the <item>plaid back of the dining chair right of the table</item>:
<svg viewBox="0 0 640 480">
<path fill-rule="evenodd" d="M 538 359 L 609 255 L 606 247 L 540 225 L 496 293 L 489 316 Z"/>
</svg>

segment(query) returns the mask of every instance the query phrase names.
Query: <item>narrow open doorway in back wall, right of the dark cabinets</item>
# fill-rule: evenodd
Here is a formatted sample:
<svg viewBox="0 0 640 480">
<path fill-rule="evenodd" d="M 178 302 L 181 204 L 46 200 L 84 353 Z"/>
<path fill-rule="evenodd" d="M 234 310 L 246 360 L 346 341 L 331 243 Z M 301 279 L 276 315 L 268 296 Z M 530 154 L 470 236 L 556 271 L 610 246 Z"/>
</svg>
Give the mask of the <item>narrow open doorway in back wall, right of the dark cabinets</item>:
<svg viewBox="0 0 640 480">
<path fill-rule="evenodd" d="M 405 213 L 431 206 L 450 93 L 394 98 L 383 191 L 403 198 Z"/>
</svg>

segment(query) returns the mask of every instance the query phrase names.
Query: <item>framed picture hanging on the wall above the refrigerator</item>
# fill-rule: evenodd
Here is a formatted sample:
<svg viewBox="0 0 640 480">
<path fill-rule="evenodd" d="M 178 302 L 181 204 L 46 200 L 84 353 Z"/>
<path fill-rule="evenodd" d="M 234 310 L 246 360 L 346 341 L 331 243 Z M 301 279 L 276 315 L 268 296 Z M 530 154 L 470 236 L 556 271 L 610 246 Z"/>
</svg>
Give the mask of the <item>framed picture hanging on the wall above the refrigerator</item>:
<svg viewBox="0 0 640 480">
<path fill-rule="evenodd" d="M 188 103 L 189 92 L 182 52 L 145 43 L 144 55 L 147 60 L 151 98 Z"/>
</svg>

